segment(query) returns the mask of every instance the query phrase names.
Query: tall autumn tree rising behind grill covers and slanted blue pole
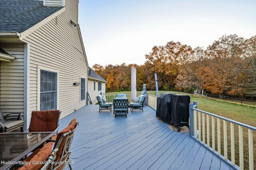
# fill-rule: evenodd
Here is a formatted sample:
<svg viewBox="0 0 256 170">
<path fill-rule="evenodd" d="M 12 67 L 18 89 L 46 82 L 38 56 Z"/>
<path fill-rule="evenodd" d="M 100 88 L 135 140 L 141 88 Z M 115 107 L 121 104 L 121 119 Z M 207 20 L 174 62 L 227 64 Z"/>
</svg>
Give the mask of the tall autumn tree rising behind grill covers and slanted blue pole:
<svg viewBox="0 0 256 170">
<path fill-rule="evenodd" d="M 160 89 L 173 88 L 180 67 L 190 60 L 192 52 L 190 46 L 174 41 L 168 42 L 165 46 L 154 46 L 152 52 L 145 55 L 145 67 L 148 72 L 150 87 L 154 86 L 154 73 L 157 73 Z"/>
</svg>

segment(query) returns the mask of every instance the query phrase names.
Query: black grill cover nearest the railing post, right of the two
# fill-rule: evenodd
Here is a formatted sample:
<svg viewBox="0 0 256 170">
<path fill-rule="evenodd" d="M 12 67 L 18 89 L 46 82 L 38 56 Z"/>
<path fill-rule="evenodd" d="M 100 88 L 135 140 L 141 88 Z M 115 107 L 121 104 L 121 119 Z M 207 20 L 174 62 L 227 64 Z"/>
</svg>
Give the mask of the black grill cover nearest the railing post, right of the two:
<svg viewBox="0 0 256 170">
<path fill-rule="evenodd" d="M 177 126 L 188 126 L 190 96 L 175 94 L 171 96 L 171 121 Z M 187 123 L 180 123 L 187 122 Z"/>
</svg>

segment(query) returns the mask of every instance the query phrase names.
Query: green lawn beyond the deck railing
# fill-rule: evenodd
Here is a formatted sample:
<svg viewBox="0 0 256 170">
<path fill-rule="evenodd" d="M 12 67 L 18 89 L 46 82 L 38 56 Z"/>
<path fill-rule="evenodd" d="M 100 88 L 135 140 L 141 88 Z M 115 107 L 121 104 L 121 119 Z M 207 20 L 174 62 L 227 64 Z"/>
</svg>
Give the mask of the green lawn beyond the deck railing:
<svg viewBox="0 0 256 170">
<path fill-rule="evenodd" d="M 159 94 L 166 91 L 159 91 Z M 172 91 L 168 91 L 172 92 Z M 117 94 L 124 92 L 111 92 L 108 94 Z M 138 92 L 139 94 L 140 92 Z M 155 91 L 148 91 L 149 94 L 155 95 Z M 186 94 L 182 92 L 172 92 L 176 94 Z M 131 94 L 131 92 L 126 92 L 126 94 Z M 200 95 L 190 95 L 190 101 L 198 101 L 198 109 L 208 111 L 210 113 L 226 117 L 228 119 L 233 119 L 251 126 L 256 127 L 256 108 L 240 106 L 231 103 L 224 103 L 220 101 L 210 100 L 202 98 Z"/>
</svg>

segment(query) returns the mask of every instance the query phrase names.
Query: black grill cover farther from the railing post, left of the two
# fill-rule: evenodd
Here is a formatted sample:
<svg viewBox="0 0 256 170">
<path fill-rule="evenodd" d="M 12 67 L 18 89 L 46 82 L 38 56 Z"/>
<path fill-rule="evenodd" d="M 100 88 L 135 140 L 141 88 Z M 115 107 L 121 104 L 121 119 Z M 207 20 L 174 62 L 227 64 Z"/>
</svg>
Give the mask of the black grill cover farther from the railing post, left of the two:
<svg viewBox="0 0 256 170">
<path fill-rule="evenodd" d="M 171 123 L 171 95 L 173 93 L 162 93 L 157 98 L 156 117 L 162 119 L 163 122 Z"/>
</svg>

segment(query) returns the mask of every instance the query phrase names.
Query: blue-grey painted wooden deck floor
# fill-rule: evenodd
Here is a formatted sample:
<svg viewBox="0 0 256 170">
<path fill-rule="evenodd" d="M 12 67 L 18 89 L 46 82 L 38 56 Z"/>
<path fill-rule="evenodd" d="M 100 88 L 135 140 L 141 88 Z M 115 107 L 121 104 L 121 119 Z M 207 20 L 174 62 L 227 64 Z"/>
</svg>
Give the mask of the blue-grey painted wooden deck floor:
<svg viewBox="0 0 256 170">
<path fill-rule="evenodd" d="M 168 129 L 148 106 L 143 113 L 114 118 L 113 112 L 98 113 L 98 105 L 88 105 L 61 119 L 60 129 L 73 118 L 80 122 L 71 146 L 73 169 L 232 169 L 188 133 Z"/>
</svg>

